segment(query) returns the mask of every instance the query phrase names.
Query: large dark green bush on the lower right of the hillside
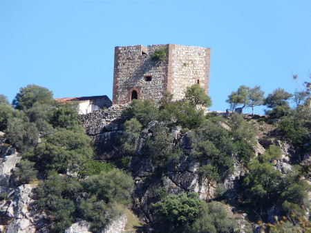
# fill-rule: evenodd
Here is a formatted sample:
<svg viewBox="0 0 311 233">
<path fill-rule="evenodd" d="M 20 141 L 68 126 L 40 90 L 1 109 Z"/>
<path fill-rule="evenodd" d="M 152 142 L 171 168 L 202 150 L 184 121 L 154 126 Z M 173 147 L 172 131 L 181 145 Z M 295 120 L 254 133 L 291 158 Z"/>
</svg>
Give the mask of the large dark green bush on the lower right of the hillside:
<svg viewBox="0 0 311 233">
<path fill-rule="evenodd" d="M 301 174 L 294 169 L 283 175 L 275 170 L 271 161 L 278 159 L 280 148 L 270 146 L 265 153 L 249 163 L 249 172 L 243 179 L 245 199 L 249 207 L 259 215 L 268 208 L 279 205 L 283 214 L 301 212 L 301 207 L 308 207 L 308 190 L 310 185 L 301 180 Z"/>
</svg>

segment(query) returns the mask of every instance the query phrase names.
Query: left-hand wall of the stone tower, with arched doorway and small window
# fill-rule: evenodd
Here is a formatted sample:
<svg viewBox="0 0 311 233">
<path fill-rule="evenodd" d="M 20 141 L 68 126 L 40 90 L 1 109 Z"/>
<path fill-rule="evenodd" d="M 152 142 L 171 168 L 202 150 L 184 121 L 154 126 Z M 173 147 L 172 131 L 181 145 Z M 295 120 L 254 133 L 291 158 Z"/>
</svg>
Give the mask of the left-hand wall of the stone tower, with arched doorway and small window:
<svg viewBox="0 0 311 233">
<path fill-rule="evenodd" d="M 142 45 L 115 48 L 113 103 L 128 103 L 133 90 L 138 99 L 159 101 L 166 88 L 167 60 L 151 61 L 152 52 L 167 45 Z M 146 81 L 151 77 L 151 81 Z"/>
</svg>

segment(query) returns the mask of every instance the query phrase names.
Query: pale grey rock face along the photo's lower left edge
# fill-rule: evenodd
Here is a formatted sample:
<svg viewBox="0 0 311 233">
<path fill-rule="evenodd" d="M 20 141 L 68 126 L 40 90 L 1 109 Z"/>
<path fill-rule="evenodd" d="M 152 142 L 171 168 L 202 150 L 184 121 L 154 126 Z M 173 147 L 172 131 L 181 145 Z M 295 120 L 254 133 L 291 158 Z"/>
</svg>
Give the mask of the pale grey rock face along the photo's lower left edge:
<svg viewBox="0 0 311 233">
<path fill-rule="evenodd" d="M 34 185 L 16 187 L 12 170 L 21 160 L 20 154 L 5 143 L 4 134 L 0 132 L 0 229 L 1 232 L 35 232 L 38 220 L 31 211 L 32 191 Z"/>
</svg>

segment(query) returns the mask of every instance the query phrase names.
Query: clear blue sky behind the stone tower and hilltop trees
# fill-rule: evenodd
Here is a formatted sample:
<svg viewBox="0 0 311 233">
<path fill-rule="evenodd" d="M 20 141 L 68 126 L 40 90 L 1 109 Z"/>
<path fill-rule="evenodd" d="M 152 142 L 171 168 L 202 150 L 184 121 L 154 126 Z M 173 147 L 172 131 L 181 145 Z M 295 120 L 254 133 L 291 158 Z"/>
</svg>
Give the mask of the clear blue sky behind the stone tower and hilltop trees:
<svg viewBox="0 0 311 233">
<path fill-rule="evenodd" d="M 0 94 L 34 83 L 111 98 L 115 46 L 166 43 L 211 48 L 211 110 L 240 85 L 294 92 L 311 73 L 310 12 L 310 0 L 0 0 Z"/>
</svg>

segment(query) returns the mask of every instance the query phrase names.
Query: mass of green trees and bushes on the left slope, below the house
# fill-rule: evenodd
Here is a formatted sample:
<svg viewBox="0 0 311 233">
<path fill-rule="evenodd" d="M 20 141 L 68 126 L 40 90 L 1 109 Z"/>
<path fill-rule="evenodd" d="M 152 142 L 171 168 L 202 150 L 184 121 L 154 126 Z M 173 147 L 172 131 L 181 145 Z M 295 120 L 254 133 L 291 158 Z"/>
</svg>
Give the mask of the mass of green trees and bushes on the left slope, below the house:
<svg viewBox="0 0 311 233">
<path fill-rule="evenodd" d="M 133 179 L 93 160 L 91 139 L 77 120 L 75 105 L 57 105 L 53 93 L 37 85 L 21 88 L 12 108 L 1 98 L 0 127 L 22 154 L 17 185 L 39 179 L 35 210 L 50 216 L 52 232 L 76 219 L 99 231 L 131 203 Z"/>
</svg>

